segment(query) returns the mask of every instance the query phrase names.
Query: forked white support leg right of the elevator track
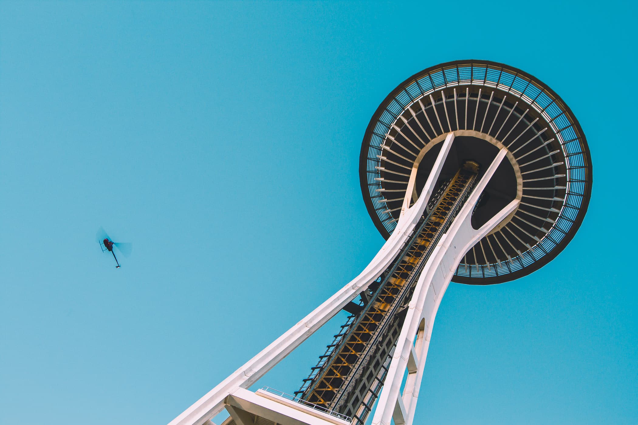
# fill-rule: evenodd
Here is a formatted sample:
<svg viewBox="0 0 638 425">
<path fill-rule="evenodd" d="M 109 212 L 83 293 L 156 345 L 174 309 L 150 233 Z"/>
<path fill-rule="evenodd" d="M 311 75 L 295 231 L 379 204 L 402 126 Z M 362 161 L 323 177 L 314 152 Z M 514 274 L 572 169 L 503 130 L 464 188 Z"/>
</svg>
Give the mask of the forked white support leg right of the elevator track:
<svg viewBox="0 0 638 425">
<path fill-rule="evenodd" d="M 474 206 L 505 154 L 507 150 L 503 148 L 496 155 L 452 226 L 434 248 L 417 281 L 385 384 L 379 396 L 372 420 L 373 425 L 390 425 L 393 417 L 397 425 L 399 423 L 412 425 L 434 316 L 454 276 L 457 264 L 477 241 L 514 211 L 520 202 L 519 199 L 512 201 L 480 229 L 474 229 L 471 225 L 471 213 Z M 401 394 L 401 382 L 403 382 L 406 368 L 408 377 Z"/>
</svg>

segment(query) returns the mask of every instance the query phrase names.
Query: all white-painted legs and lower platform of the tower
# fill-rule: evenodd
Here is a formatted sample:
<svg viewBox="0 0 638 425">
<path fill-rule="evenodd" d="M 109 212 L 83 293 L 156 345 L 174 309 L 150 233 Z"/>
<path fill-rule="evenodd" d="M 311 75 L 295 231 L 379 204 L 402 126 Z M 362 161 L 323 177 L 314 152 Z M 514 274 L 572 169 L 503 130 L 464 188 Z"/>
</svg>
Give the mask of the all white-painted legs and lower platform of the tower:
<svg viewBox="0 0 638 425">
<path fill-rule="evenodd" d="M 424 213 L 453 140 L 454 133 L 447 134 L 421 195 L 414 205 L 409 208 L 410 201 L 406 199 L 396 229 L 359 276 L 277 338 L 244 366 L 214 387 L 209 393 L 205 394 L 204 397 L 171 421 L 169 425 L 202 425 L 211 423 L 210 419 L 228 405 L 230 405 L 228 410 L 237 425 L 246 425 L 242 423 L 246 422 L 245 415 L 239 412 L 237 408 L 248 409 L 253 414 L 267 414 L 269 417 L 277 416 L 280 420 L 281 416 L 274 415 L 272 412 L 278 412 L 278 414 L 284 416 L 288 415 L 290 418 L 288 422 L 291 425 L 299 425 L 300 423 L 320 425 L 327 422 L 334 424 L 334 421 L 322 419 L 316 415 L 313 416 L 308 414 L 308 412 L 300 412 L 299 409 L 295 410 L 294 407 L 286 405 L 286 403 L 272 400 L 272 397 L 269 399 L 264 397 L 263 394 L 260 397 L 246 389 L 334 317 L 336 313 L 356 298 L 360 292 L 364 291 L 392 263 Z M 396 350 L 394 350 L 385 385 L 383 385 L 383 390 L 380 394 L 373 417 L 375 425 L 390 424 L 390 419 L 393 416 L 396 425 L 412 424 L 434 315 L 436 315 L 441 297 L 445 289 L 447 289 L 452 275 L 454 275 L 454 270 L 456 270 L 457 264 L 459 264 L 467 250 L 496 227 L 510 212 L 516 210 L 519 204 L 518 199 L 512 201 L 480 229 L 475 230 L 471 226 L 470 219 L 474 205 L 506 154 L 507 149 L 502 148 L 472 192 L 470 199 L 457 215 L 449 231 L 439 241 L 427 261 L 424 271 L 422 271 L 410 302 L 409 311 L 404 321 Z M 412 196 L 412 192 L 408 192 L 406 198 L 408 196 Z M 400 394 L 400 385 L 406 369 L 408 371 L 407 383 L 403 394 Z M 238 400 L 243 400 L 243 404 Z"/>
</svg>

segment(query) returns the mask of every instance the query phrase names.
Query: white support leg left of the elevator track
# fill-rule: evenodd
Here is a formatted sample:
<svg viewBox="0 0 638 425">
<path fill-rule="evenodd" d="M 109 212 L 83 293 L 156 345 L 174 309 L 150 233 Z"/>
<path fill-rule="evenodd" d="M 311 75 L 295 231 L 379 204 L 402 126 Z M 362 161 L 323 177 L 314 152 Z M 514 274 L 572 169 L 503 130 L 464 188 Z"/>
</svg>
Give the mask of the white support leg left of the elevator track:
<svg viewBox="0 0 638 425">
<path fill-rule="evenodd" d="M 441 152 L 438 155 L 434 168 L 422 191 L 422 196 L 410 208 L 401 212 L 397 227 L 390 238 L 383 244 L 382 249 L 367 267 L 355 277 L 350 283 L 341 288 L 336 294 L 331 296 L 313 312 L 295 324 L 286 333 L 279 336 L 268 347 L 262 350 L 255 357 L 250 359 L 244 366 L 236 370 L 232 375 L 223 380 L 221 384 L 214 387 L 204 397 L 182 412 L 169 425 L 202 425 L 217 415 L 225 407 L 225 399 L 229 394 L 233 394 L 237 389 L 246 389 L 256 380 L 261 378 L 267 371 L 271 370 L 284 357 L 288 356 L 292 350 L 297 348 L 310 335 L 329 321 L 336 313 L 350 301 L 355 299 L 360 292 L 364 291 L 383 271 L 392 263 L 401 247 L 409 238 L 410 234 L 424 212 L 427 201 L 434 190 L 434 185 L 443 168 L 445 158 L 452 146 L 454 134 L 450 133 L 443 142 Z"/>
</svg>

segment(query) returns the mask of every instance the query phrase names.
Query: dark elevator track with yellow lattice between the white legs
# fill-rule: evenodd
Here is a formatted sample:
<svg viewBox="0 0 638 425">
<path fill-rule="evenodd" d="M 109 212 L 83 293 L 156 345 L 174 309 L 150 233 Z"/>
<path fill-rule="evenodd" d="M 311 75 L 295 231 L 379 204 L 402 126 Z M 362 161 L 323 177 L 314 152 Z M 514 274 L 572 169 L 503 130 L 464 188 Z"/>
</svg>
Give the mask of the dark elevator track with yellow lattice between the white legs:
<svg viewBox="0 0 638 425">
<path fill-rule="evenodd" d="M 385 380 L 420 272 L 471 193 L 476 171 L 477 164 L 466 164 L 440 185 L 395 261 L 362 294 L 362 310 L 341 326 L 296 396 L 364 424 Z"/>
</svg>

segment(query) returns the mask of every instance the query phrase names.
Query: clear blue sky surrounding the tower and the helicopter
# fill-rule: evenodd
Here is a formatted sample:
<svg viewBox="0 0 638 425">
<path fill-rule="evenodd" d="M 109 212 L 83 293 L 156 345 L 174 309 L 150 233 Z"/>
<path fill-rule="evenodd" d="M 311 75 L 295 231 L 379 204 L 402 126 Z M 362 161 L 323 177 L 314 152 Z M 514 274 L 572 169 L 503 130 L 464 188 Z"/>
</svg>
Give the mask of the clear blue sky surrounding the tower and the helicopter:
<svg viewBox="0 0 638 425">
<path fill-rule="evenodd" d="M 591 148 L 590 209 L 533 275 L 450 285 L 415 424 L 636 424 L 632 3 L 0 3 L 0 423 L 166 424 L 382 246 L 376 107 L 504 62 Z M 133 243 L 115 269 L 98 227 Z M 339 315 L 259 385 L 299 388 Z"/>
</svg>

